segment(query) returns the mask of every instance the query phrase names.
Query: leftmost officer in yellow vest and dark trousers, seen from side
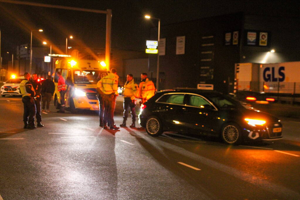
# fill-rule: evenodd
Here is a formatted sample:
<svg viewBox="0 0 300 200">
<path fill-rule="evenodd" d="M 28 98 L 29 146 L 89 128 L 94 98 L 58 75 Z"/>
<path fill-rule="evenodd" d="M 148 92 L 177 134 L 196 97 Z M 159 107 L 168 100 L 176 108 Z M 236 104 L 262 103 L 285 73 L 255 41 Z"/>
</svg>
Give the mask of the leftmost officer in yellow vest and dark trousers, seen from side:
<svg viewBox="0 0 300 200">
<path fill-rule="evenodd" d="M 24 128 L 36 128 L 35 126 L 35 89 L 33 88 L 30 79 L 30 74 L 24 74 L 24 80 L 20 83 L 20 92 L 22 94 L 22 102 L 24 105 L 23 122 Z"/>
</svg>

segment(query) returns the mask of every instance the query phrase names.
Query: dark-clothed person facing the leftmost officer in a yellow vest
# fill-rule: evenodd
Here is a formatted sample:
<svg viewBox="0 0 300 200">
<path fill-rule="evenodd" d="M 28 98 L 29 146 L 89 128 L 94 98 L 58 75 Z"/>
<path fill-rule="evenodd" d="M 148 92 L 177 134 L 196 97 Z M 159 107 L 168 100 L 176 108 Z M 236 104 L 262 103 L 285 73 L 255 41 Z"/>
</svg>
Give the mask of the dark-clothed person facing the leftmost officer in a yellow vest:
<svg viewBox="0 0 300 200">
<path fill-rule="evenodd" d="M 41 123 L 42 122 L 42 116 L 41 116 L 41 89 L 42 89 L 42 84 L 38 80 L 38 75 L 37 74 L 32 74 L 32 79 L 30 80 L 33 88 L 35 89 L 35 107 L 36 107 L 36 118 L 38 122 L 38 127 L 43 127 L 44 125 Z"/>
</svg>

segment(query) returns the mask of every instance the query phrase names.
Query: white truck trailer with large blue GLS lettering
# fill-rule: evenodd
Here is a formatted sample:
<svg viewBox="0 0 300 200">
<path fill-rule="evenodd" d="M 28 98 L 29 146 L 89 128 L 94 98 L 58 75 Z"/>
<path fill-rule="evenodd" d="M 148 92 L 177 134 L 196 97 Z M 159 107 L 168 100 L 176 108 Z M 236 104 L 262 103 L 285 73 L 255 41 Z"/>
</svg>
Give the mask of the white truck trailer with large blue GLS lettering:
<svg viewBox="0 0 300 200">
<path fill-rule="evenodd" d="M 235 64 L 235 92 L 247 101 L 300 103 L 300 61 Z"/>
</svg>

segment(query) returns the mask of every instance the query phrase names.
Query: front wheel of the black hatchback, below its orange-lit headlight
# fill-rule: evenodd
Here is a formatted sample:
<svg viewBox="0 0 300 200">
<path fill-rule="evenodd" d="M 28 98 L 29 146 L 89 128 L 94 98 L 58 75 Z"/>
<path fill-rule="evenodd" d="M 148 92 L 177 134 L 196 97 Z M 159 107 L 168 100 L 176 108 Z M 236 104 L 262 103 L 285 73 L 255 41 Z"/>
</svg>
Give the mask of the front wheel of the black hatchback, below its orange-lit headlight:
<svg viewBox="0 0 300 200">
<path fill-rule="evenodd" d="M 228 123 L 223 126 L 221 137 L 227 144 L 238 145 L 242 142 L 241 128 L 236 123 Z"/>
</svg>

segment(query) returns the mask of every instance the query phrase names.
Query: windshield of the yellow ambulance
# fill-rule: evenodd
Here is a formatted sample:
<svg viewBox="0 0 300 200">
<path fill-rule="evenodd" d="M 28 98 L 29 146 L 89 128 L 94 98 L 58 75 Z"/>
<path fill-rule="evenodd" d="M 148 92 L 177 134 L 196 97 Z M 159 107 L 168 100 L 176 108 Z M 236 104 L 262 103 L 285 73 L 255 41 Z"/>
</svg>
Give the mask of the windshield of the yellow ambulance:
<svg viewBox="0 0 300 200">
<path fill-rule="evenodd" d="M 99 70 L 74 70 L 75 84 L 97 84 Z"/>
</svg>

